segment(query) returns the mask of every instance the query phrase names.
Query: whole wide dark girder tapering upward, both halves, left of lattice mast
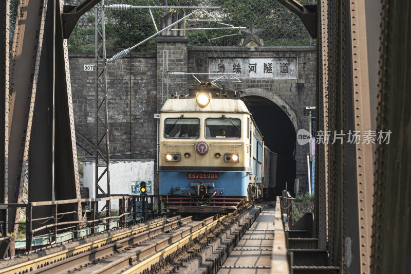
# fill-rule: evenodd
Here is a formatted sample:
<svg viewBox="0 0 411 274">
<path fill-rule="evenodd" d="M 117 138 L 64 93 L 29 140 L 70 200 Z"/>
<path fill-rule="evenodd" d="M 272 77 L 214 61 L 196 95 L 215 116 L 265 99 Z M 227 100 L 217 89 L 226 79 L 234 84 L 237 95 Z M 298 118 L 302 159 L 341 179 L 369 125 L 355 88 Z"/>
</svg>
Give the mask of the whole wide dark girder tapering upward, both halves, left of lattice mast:
<svg viewBox="0 0 411 274">
<path fill-rule="evenodd" d="M 61 31 L 62 1 L 47 5 L 43 47 L 29 147 L 29 202 L 80 198 L 77 149 L 67 44 Z M 54 21 L 55 15 L 55 21 Z M 55 27 L 54 27 L 55 26 Z M 33 208 L 32 217 L 51 216 L 51 207 Z M 59 207 L 60 212 L 81 209 Z M 81 213 L 60 220 L 81 219 Z M 49 221 L 51 222 L 51 221 Z M 44 224 L 33 223 L 33 229 Z M 39 232 L 39 234 L 44 234 Z"/>
</svg>

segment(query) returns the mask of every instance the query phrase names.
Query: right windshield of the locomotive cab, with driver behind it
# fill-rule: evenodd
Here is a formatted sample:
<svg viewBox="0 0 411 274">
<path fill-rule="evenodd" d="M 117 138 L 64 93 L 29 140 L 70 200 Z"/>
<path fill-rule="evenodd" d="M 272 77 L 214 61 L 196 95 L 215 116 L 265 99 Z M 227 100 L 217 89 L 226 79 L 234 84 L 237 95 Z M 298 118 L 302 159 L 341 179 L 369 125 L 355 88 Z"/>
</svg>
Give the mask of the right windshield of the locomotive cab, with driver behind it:
<svg viewBox="0 0 411 274">
<path fill-rule="evenodd" d="M 240 119 L 218 118 L 206 119 L 206 137 L 209 139 L 240 138 Z"/>
</svg>

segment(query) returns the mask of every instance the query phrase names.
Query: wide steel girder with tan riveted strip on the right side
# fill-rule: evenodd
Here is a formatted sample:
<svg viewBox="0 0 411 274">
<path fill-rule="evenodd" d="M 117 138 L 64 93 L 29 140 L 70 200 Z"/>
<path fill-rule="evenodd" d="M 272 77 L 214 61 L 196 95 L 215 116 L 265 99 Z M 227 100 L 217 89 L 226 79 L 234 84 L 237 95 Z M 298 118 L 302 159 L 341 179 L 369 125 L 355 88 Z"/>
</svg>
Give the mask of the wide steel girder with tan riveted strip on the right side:
<svg viewBox="0 0 411 274">
<path fill-rule="evenodd" d="M 327 4 L 328 109 L 324 115 L 328 123 L 324 130 L 328 125 L 330 139 L 324 145 L 328 163 L 322 170 L 328 173 L 328 251 L 331 265 L 343 272 L 364 273 L 369 271 L 370 258 L 372 145 L 352 142 L 349 134 L 371 130 L 366 14 L 364 0 Z M 333 138 L 340 133 L 341 142 Z"/>
</svg>

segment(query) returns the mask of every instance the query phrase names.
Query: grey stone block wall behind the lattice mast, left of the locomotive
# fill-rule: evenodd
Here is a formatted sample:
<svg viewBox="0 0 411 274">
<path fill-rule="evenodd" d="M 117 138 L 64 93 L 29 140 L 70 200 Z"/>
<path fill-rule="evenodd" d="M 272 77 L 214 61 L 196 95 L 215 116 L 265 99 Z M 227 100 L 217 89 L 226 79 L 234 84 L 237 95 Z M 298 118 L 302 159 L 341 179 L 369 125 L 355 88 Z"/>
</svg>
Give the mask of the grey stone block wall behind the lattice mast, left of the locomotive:
<svg viewBox="0 0 411 274">
<path fill-rule="evenodd" d="M 96 140 L 95 71 L 84 71 L 83 66 L 93 64 L 94 59 L 94 54 L 84 53 L 69 57 L 76 131 L 91 143 Z M 133 53 L 107 65 L 112 159 L 156 157 L 150 151 L 157 143 L 155 67 L 154 53 Z"/>
</svg>

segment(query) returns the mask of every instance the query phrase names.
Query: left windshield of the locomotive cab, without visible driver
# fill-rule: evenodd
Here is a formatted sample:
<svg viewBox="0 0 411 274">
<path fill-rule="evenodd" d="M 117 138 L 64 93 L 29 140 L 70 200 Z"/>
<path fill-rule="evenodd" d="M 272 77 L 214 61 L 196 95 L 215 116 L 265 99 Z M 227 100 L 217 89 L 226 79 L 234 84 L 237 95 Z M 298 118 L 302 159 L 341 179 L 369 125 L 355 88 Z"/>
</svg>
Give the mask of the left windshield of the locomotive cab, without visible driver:
<svg viewBox="0 0 411 274">
<path fill-rule="evenodd" d="M 200 135 L 200 119 L 167 118 L 164 120 L 164 137 L 197 139 Z"/>
</svg>

